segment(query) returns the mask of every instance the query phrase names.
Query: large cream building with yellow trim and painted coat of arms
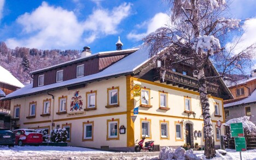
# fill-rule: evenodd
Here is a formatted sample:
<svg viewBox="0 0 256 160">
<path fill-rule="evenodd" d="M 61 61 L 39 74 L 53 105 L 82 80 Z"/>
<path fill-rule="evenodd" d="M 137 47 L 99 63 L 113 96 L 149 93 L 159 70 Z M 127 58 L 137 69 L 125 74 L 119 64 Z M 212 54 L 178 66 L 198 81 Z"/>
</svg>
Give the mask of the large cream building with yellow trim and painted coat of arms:
<svg viewBox="0 0 256 160">
<path fill-rule="evenodd" d="M 143 135 L 160 146 L 204 145 L 191 62 L 168 70 L 165 61 L 149 58 L 146 47 L 121 45 L 97 54 L 85 47 L 81 58 L 31 72 L 32 84 L 5 97 L 16 127 L 66 128 L 72 146 L 133 150 Z M 218 74 L 213 67 L 207 73 Z M 207 88 L 218 146 L 224 128 L 216 122 L 225 121 L 223 98 L 232 95 L 222 79 Z"/>
</svg>

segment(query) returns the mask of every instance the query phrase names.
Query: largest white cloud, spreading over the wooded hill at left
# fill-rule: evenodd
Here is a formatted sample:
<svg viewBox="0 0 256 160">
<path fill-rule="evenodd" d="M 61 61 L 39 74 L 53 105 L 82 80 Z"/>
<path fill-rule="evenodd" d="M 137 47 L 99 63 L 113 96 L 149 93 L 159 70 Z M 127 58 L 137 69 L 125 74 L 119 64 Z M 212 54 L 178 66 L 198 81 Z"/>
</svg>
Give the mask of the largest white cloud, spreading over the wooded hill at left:
<svg viewBox="0 0 256 160">
<path fill-rule="evenodd" d="M 130 3 L 123 3 L 113 10 L 96 9 L 84 21 L 78 21 L 73 11 L 49 6 L 43 2 L 32 13 L 25 13 L 16 22 L 21 25 L 24 38 L 6 40 L 10 48 L 26 46 L 39 49 L 67 49 L 92 43 L 95 39 L 116 34 L 121 20 L 129 16 Z M 84 34 L 89 35 L 84 38 Z"/>
</svg>

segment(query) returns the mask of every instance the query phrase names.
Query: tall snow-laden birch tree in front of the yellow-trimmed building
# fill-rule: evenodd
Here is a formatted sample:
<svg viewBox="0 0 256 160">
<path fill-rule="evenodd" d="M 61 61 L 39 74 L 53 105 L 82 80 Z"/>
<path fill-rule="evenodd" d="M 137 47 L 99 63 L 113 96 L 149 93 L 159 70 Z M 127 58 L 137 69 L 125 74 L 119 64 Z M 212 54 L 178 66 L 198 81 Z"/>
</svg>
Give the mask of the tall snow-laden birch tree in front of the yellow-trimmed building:
<svg viewBox="0 0 256 160">
<path fill-rule="evenodd" d="M 205 156 L 213 158 L 216 151 L 207 97 L 207 81 L 212 82 L 223 78 L 226 73 L 242 71 L 248 67 L 254 56 L 255 44 L 236 54 L 221 45 L 225 36 L 239 29 L 243 22 L 225 16 L 228 8 L 225 0 L 169 0 L 168 4 L 171 25 L 157 29 L 144 38 L 143 42 L 150 46 L 150 56 L 168 57 L 170 69 L 178 62 L 194 61 L 194 76 L 198 79 L 205 126 Z M 160 54 L 156 55 L 159 52 Z M 183 58 L 177 61 L 177 55 L 182 55 Z M 221 74 L 209 76 L 206 70 L 214 62 Z"/>
</svg>

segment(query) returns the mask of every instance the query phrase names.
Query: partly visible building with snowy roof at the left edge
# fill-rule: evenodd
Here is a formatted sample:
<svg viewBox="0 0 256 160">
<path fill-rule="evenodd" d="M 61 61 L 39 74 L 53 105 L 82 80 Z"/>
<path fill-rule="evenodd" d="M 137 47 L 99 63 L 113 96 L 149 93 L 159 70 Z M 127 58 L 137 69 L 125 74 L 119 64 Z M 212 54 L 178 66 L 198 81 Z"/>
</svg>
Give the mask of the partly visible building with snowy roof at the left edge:
<svg viewBox="0 0 256 160">
<path fill-rule="evenodd" d="M 8 70 L 0 66 L 0 98 L 24 87 Z M 0 128 L 10 128 L 10 100 L 0 99 Z"/>
</svg>

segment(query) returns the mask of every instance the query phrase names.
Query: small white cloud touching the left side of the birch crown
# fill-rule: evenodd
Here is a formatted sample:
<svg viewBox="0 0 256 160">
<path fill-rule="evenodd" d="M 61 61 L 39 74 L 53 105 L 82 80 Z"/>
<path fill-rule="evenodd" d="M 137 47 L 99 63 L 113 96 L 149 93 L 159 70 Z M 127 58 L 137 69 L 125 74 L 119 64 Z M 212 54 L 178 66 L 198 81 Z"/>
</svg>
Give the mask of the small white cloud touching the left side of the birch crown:
<svg viewBox="0 0 256 160">
<path fill-rule="evenodd" d="M 143 37 L 146 37 L 149 33 L 155 32 L 156 29 L 168 25 L 170 17 L 165 13 L 158 13 L 150 19 L 149 21 L 142 22 L 139 25 L 136 25 L 137 28 L 147 27 L 147 32 L 137 33 L 136 30 L 133 30 L 127 35 L 128 39 L 132 40 L 141 40 Z"/>
</svg>

